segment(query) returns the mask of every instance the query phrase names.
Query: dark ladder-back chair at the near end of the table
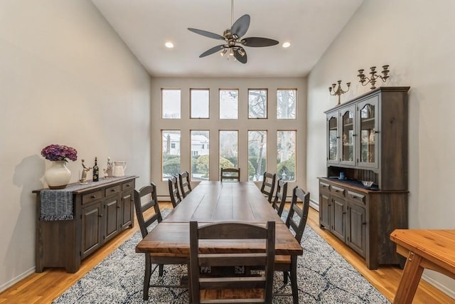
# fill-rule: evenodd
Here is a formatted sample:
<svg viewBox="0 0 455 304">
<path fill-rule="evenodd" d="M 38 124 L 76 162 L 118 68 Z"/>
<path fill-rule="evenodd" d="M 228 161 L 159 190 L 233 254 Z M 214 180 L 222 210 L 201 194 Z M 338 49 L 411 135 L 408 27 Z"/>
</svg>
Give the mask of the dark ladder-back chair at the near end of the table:
<svg viewBox="0 0 455 304">
<path fill-rule="evenodd" d="M 262 252 L 240 253 L 223 246 L 224 240 L 239 244 L 254 239 L 262 241 Z M 204 251 L 199 241 L 220 249 Z M 201 243 L 202 243 L 201 242 Z M 190 269 L 193 303 L 272 303 L 274 274 L 275 222 L 267 226 L 244 222 L 221 222 L 198 226 L 190 221 Z M 242 276 L 201 276 L 200 267 L 262 266 L 264 272 L 245 273 Z M 235 298 L 235 300 L 228 299 Z"/>
</svg>

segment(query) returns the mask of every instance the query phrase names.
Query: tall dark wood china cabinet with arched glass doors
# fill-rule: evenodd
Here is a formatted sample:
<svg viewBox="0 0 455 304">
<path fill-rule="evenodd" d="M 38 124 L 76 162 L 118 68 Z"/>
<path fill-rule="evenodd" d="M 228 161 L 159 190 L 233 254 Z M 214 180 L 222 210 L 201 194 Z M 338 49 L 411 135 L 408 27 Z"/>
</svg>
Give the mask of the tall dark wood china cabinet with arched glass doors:
<svg viewBox="0 0 455 304">
<path fill-rule="evenodd" d="M 365 258 L 370 269 L 401 262 L 389 235 L 408 223 L 408 90 L 381 87 L 325 112 L 320 226 Z"/>
</svg>

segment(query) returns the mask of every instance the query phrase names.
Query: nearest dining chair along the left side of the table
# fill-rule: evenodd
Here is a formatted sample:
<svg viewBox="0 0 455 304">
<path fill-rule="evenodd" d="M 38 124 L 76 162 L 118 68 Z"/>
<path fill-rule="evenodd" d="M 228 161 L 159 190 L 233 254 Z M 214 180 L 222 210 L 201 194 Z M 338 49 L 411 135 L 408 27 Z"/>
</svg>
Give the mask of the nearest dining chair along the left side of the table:
<svg viewBox="0 0 455 304">
<path fill-rule="evenodd" d="M 149 227 L 152 224 L 159 224 L 162 221 L 161 211 L 159 209 L 158 199 L 156 198 L 156 184 L 151 183 L 148 186 L 141 187 L 139 191 L 134 190 L 134 206 L 136 209 L 137 222 L 141 230 L 142 238 L 149 234 Z M 153 212 L 152 212 L 152 209 Z M 156 266 L 152 269 L 152 264 Z M 150 285 L 151 275 L 159 268 L 159 276 L 163 276 L 164 265 L 169 264 L 186 264 L 188 267 L 188 256 L 152 256 L 145 253 L 145 273 L 144 273 L 144 300 L 149 299 L 149 287 L 175 287 L 188 288 L 188 285 Z"/>
</svg>

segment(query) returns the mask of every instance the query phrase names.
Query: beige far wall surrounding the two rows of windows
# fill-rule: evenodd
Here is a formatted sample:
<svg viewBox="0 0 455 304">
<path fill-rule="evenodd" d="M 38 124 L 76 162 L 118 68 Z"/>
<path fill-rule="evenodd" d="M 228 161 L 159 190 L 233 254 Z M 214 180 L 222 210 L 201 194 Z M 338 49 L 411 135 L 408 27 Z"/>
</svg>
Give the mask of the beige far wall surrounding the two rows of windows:
<svg viewBox="0 0 455 304">
<path fill-rule="evenodd" d="M 201 61 L 203 59 L 200 59 Z M 220 58 L 223 60 L 223 58 Z M 225 60 L 225 59 L 224 59 Z M 240 64 L 232 62 L 232 64 Z M 240 68 L 242 68 L 240 66 Z M 180 88 L 181 89 L 181 119 L 163 120 L 161 119 L 161 88 Z M 205 88 L 210 90 L 210 120 L 191 120 L 189 115 L 190 108 L 190 89 Z M 238 89 L 239 90 L 239 118 L 238 120 L 219 120 L 219 89 Z M 247 112 L 247 92 L 249 88 L 266 88 L 268 90 L 268 117 L 265 120 L 249 120 Z M 297 116 L 298 120 L 280 120 L 282 127 L 277 129 L 277 89 L 297 89 Z M 306 117 L 306 78 L 152 78 L 151 80 L 151 140 L 154 145 L 151 147 L 151 178 L 158 187 L 159 196 L 168 196 L 167 182 L 161 182 L 161 130 L 181 130 L 181 171 L 190 171 L 190 130 L 217 130 L 210 132 L 210 180 L 218 180 L 218 130 L 238 130 L 239 143 L 247 141 L 248 130 L 267 130 L 267 171 L 277 172 L 277 147 L 276 138 L 270 134 L 277 130 L 296 130 L 297 131 L 297 156 L 296 156 L 296 179 L 288 186 L 288 195 L 291 189 L 298 184 L 306 187 L 305 157 L 306 157 L 306 121 L 301 117 Z M 250 127 L 248 127 L 250 126 Z M 184 136 L 188 135 L 188 136 Z M 214 158 L 215 157 L 215 158 Z M 247 147 L 239 145 L 239 167 L 247 167 Z M 246 180 L 247 170 L 241 170 L 241 179 Z M 260 187 L 260 185 L 259 185 Z"/>
</svg>

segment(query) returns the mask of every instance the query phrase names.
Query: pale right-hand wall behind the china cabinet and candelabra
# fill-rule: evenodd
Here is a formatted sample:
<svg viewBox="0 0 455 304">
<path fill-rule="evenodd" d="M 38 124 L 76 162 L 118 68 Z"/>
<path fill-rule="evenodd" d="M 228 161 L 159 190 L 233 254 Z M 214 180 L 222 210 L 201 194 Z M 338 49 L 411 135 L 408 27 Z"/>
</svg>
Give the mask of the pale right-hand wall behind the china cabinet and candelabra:
<svg viewBox="0 0 455 304">
<path fill-rule="evenodd" d="M 358 70 L 390 64 L 387 86 L 410 85 L 409 222 L 411 229 L 454 229 L 450 182 L 455 168 L 455 1 L 368 0 L 309 75 L 309 191 L 326 174 L 326 116 L 336 97 L 328 86 L 350 81 L 342 103 L 369 91 Z M 343 85 L 346 88 L 346 85 Z M 405 145 L 407 143 L 404 143 Z M 315 196 L 313 196 L 315 198 Z M 317 198 L 317 196 L 316 196 Z M 426 271 L 427 280 L 455 298 L 455 281 Z"/>
</svg>

